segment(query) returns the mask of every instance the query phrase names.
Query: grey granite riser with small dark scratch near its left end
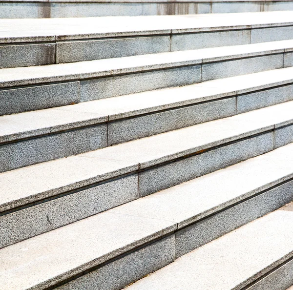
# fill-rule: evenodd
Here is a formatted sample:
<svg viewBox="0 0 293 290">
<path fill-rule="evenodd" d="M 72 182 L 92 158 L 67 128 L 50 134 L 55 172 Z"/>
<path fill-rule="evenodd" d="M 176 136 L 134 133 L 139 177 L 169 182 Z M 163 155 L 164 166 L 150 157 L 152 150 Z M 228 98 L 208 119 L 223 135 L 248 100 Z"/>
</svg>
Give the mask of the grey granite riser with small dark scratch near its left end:
<svg viewBox="0 0 293 290">
<path fill-rule="evenodd" d="M 283 138 L 289 144 L 293 134 L 288 137 L 288 130 L 293 130 L 293 125 L 3 215 L 0 248 L 264 154 L 278 147 Z"/>
</svg>

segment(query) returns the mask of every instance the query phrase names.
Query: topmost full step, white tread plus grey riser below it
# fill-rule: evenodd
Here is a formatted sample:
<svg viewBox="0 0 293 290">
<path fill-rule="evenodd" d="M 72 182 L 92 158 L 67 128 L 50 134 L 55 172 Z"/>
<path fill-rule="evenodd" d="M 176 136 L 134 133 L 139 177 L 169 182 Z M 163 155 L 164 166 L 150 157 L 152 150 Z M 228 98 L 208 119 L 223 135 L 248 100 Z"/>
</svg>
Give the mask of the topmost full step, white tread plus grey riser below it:
<svg viewBox="0 0 293 290">
<path fill-rule="evenodd" d="M 290 39 L 293 39 L 293 11 L 5 19 L 0 20 L 0 68 Z"/>
</svg>

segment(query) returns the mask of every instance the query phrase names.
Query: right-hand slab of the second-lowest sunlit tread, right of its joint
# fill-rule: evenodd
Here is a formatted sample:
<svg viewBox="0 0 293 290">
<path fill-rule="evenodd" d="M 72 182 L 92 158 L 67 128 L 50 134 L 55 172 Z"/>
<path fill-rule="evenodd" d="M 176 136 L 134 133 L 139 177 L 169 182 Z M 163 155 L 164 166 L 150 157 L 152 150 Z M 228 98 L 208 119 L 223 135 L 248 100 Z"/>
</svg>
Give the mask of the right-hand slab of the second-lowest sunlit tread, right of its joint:
<svg viewBox="0 0 293 290">
<path fill-rule="evenodd" d="M 184 228 L 293 177 L 293 144 L 109 209 Z"/>
</svg>

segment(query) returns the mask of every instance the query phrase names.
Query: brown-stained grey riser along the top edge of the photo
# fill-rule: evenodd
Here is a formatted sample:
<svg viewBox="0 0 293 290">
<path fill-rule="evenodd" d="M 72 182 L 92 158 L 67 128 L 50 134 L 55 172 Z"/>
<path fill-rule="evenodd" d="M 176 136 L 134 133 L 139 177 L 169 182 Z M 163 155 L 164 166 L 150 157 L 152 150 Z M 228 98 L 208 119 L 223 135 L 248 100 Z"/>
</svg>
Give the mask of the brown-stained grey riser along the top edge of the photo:
<svg viewBox="0 0 293 290">
<path fill-rule="evenodd" d="M 1 0 L 0 18 L 181 15 L 293 10 L 291 0 Z"/>
</svg>

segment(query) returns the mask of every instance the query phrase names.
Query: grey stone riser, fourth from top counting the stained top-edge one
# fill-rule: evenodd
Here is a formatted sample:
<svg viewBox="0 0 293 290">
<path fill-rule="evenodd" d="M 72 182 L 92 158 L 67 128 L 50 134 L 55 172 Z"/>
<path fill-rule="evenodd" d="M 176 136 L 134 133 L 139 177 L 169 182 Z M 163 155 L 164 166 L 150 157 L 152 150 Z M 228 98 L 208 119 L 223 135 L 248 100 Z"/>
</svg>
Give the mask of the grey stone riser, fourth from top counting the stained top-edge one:
<svg viewBox="0 0 293 290">
<path fill-rule="evenodd" d="M 0 172 L 293 100 L 293 84 L 0 146 Z M 42 148 L 42 150 L 40 150 Z"/>
</svg>

